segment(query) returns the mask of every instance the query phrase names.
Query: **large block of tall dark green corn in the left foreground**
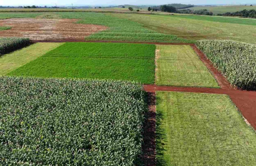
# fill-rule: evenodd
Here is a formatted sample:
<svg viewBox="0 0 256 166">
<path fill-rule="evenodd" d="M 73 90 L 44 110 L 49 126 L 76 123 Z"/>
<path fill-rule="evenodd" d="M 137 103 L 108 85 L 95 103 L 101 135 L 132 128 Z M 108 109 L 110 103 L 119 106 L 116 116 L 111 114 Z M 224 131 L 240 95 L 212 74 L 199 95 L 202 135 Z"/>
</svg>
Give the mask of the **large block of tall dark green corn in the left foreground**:
<svg viewBox="0 0 256 166">
<path fill-rule="evenodd" d="M 134 166 L 146 109 L 137 83 L 0 77 L 0 165 Z"/>
</svg>

